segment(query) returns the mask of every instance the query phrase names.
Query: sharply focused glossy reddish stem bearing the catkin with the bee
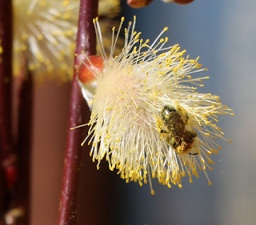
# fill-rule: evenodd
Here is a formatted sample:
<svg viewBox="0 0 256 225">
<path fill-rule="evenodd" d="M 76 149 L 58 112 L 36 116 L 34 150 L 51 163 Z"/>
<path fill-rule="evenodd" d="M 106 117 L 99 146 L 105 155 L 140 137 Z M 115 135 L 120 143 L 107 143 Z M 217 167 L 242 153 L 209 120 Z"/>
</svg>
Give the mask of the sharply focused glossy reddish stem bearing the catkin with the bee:
<svg viewBox="0 0 256 225">
<path fill-rule="evenodd" d="M 81 53 L 82 50 L 84 50 L 87 55 L 96 53 L 96 38 L 92 21 L 93 18 L 97 16 L 97 13 L 97 0 L 81 0 L 76 53 Z M 78 124 L 86 123 L 86 121 L 84 121 L 86 102 L 82 98 L 76 74 L 79 63 L 80 61 L 75 58 L 74 78 L 70 97 L 69 128 L 74 128 Z M 83 129 L 78 128 L 68 131 L 58 225 L 76 224 L 77 221 L 78 180 L 82 166 L 81 143 L 83 139 Z"/>
</svg>

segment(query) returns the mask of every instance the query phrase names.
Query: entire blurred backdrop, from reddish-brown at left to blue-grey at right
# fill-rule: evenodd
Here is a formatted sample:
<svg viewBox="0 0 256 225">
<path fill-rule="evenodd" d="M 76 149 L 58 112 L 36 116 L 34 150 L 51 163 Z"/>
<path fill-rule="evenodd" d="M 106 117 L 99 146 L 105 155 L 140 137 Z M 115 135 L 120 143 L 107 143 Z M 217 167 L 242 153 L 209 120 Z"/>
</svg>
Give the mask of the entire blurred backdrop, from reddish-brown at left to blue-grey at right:
<svg viewBox="0 0 256 225">
<path fill-rule="evenodd" d="M 97 171 L 90 148 L 81 148 L 84 167 L 78 224 L 255 224 L 255 9 L 254 0 L 195 0 L 186 6 L 155 0 L 134 10 L 122 0 L 126 25 L 135 14 L 142 38 L 152 41 L 168 26 L 170 45 L 178 43 L 191 58 L 200 56 L 199 62 L 209 69 L 201 76 L 210 79 L 198 92 L 218 95 L 234 109 L 235 116 L 219 118 L 219 126 L 233 143 L 218 142 L 222 150 L 213 156 L 214 170 L 208 172 L 213 185 L 207 184 L 203 174 L 193 184 L 182 180 L 182 189 L 154 181 L 155 195 L 150 195 L 148 185 L 126 184 L 106 164 Z M 49 82 L 36 87 L 33 225 L 56 224 L 58 219 L 69 97 L 70 84 Z"/>
</svg>

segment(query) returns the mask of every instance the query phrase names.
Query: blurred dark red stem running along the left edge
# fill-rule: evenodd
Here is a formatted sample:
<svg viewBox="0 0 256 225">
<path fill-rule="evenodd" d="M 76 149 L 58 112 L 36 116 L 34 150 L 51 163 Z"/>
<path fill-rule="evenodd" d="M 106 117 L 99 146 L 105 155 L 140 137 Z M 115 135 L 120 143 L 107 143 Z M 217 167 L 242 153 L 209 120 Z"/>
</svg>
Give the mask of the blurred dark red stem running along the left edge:
<svg viewBox="0 0 256 225">
<path fill-rule="evenodd" d="M 0 0 L 0 169 L 4 169 L 5 171 L 6 183 L 9 179 L 8 172 L 6 172 L 6 168 L 10 167 L 11 165 L 14 165 L 15 163 L 14 148 L 11 138 L 11 77 L 11 1 Z M 9 181 L 10 180 L 11 179 L 9 179 Z M 3 184 L 1 185 L 3 187 Z M 3 190 L 3 188 L 0 188 L 0 190 Z"/>
</svg>

